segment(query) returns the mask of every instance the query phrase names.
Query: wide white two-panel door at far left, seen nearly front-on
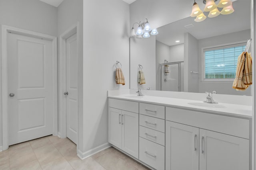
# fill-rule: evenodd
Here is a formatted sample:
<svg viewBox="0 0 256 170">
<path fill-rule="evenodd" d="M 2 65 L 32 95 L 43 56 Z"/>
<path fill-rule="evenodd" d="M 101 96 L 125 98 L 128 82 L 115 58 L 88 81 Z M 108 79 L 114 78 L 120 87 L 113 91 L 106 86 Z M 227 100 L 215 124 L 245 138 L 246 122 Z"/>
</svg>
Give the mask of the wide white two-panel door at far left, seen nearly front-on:
<svg viewBox="0 0 256 170">
<path fill-rule="evenodd" d="M 9 145 L 52 134 L 52 42 L 8 33 Z"/>
</svg>

